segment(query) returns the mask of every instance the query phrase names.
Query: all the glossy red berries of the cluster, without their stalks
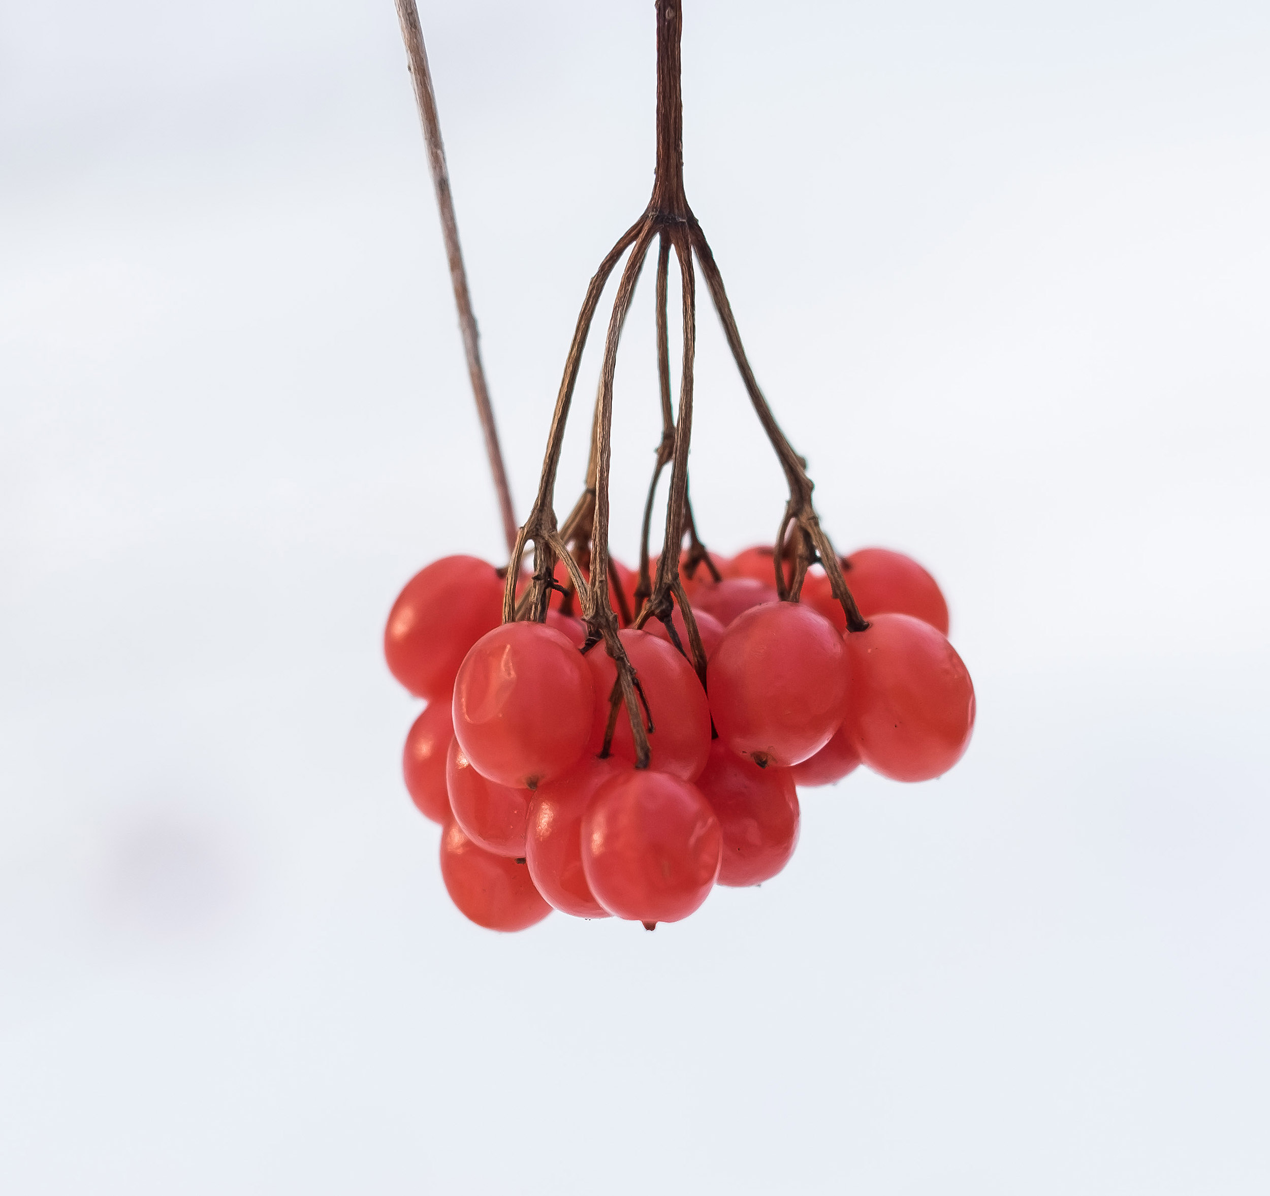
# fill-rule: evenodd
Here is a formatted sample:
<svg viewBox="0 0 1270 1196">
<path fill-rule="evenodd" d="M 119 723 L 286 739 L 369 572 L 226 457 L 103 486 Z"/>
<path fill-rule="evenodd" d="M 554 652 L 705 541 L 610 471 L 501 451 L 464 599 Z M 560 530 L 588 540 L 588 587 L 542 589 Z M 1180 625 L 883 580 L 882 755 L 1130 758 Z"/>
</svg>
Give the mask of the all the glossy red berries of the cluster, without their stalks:
<svg viewBox="0 0 1270 1196">
<path fill-rule="evenodd" d="M 685 578 L 709 696 L 663 622 L 620 632 L 646 769 L 634 767 L 627 719 L 612 720 L 616 667 L 602 642 L 579 651 L 585 628 L 560 594 L 545 623 L 503 623 L 502 571 L 470 556 L 434 561 L 401 592 L 385 655 L 428 702 L 406 738 L 405 783 L 444 828 L 442 876 L 472 922 L 519 931 L 552 908 L 676 922 L 716 882 L 780 872 L 798 843 L 795 786 L 861 762 L 925 781 L 965 752 L 974 688 L 946 639 L 944 595 L 916 561 L 885 548 L 842 561 L 870 621 L 855 632 L 819 569 L 800 602 L 782 602 L 771 548 L 710 565 Z M 629 625 L 635 575 L 615 561 L 611 579 Z M 678 607 L 672 622 L 686 648 Z"/>
</svg>

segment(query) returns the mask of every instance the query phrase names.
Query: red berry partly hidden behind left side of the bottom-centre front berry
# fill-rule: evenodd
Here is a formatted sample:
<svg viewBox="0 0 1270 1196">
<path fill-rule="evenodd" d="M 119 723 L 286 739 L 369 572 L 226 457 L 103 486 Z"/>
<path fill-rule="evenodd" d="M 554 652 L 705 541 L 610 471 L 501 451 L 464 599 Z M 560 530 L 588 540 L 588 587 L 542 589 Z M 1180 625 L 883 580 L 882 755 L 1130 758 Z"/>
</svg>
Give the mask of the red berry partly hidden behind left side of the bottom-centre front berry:
<svg viewBox="0 0 1270 1196">
<path fill-rule="evenodd" d="M 602 785 L 626 772 L 626 761 L 584 755 L 560 780 L 540 785 L 530 802 L 530 876 L 547 901 L 575 918 L 608 917 L 582 870 L 582 815 Z"/>
</svg>

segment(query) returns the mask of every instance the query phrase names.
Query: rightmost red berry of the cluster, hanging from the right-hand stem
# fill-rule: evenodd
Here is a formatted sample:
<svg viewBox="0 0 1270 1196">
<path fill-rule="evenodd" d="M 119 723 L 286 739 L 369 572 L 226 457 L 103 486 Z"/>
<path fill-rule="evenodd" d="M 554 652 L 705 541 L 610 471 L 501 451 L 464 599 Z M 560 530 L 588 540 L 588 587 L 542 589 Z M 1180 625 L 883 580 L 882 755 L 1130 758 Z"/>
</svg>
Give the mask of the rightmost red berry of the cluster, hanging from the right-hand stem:
<svg viewBox="0 0 1270 1196">
<path fill-rule="evenodd" d="M 909 615 L 875 615 L 846 636 L 845 725 L 860 758 L 893 781 L 947 772 L 974 730 L 974 686 L 952 645 Z"/>
</svg>

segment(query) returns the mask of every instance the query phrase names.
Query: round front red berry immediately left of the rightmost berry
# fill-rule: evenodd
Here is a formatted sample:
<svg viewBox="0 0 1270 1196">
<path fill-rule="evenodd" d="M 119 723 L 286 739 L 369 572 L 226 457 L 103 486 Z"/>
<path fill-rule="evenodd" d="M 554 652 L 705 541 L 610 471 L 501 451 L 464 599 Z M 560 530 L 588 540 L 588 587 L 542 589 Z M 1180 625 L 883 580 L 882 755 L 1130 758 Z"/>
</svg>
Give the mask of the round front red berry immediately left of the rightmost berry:
<svg viewBox="0 0 1270 1196">
<path fill-rule="evenodd" d="M 757 764 L 798 764 L 842 722 L 847 651 L 828 620 L 796 602 L 737 617 L 710 658 L 719 736 Z"/>
</svg>

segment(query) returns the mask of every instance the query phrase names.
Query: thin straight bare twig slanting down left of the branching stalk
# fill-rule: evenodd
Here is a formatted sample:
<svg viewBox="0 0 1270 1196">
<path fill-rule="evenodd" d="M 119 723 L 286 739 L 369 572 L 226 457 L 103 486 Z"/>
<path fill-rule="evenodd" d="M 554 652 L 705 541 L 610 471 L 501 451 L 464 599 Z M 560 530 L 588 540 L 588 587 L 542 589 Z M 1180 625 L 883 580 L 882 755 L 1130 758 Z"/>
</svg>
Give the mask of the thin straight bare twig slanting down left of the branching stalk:
<svg viewBox="0 0 1270 1196">
<path fill-rule="evenodd" d="M 401 39 L 405 42 L 410 77 L 414 83 L 414 99 L 419 108 L 419 122 L 423 124 L 423 140 L 428 147 L 428 166 L 432 170 L 432 182 L 437 189 L 437 208 L 441 212 L 441 235 L 446 241 L 450 281 L 453 283 L 455 305 L 458 307 L 458 328 L 464 335 L 464 352 L 467 355 L 467 377 L 471 380 L 472 396 L 476 400 L 476 415 L 480 419 L 481 433 L 485 437 L 485 453 L 489 456 L 489 468 L 494 475 L 494 491 L 498 495 L 498 509 L 503 519 L 503 536 L 507 540 L 507 551 L 511 552 L 516 546 L 516 512 L 512 507 L 512 491 L 507 484 L 507 470 L 503 466 L 503 452 L 498 444 L 494 409 L 489 401 L 489 389 L 485 386 L 485 369 L 480 361 L 476 317 L 472 315 L 471 295 L 467 291 L 467 272 L 464 269 L 464 255 L 458 248 L 458 223 L 455 220 L 455 201 L 450 194 L 446 147 L 441 141 L 441 124 L 437 119 L 437 96 L 432 90 L 432 72 L 428 70 L 428 53 L 423 46 L 419 10 L 414 0 L 396 0 L 396 10 L 398 19 L 401 22 Z"/>
</svg>

